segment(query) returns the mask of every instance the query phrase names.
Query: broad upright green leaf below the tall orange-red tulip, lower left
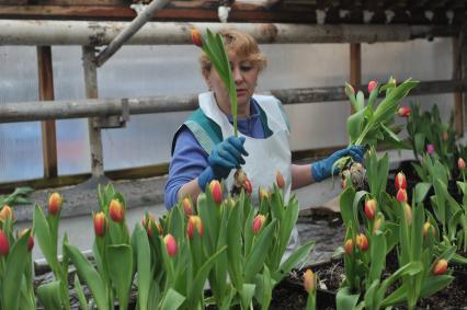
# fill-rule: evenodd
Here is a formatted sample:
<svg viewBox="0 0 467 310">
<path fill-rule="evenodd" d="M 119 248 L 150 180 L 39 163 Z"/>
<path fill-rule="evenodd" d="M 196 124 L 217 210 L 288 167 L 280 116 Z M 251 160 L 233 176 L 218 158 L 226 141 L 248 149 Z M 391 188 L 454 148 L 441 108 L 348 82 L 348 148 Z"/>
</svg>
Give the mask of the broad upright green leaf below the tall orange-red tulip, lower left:
<svg viewBox="0 0 467 310">
<path fill-rule="evenodd" d="M 110 245 L 107 246 L 107 257 L 109 275 L 115 286 L 119 309 L 126 309 L 133 280 L 132 248 L 128 244 Z"/>
</svg>

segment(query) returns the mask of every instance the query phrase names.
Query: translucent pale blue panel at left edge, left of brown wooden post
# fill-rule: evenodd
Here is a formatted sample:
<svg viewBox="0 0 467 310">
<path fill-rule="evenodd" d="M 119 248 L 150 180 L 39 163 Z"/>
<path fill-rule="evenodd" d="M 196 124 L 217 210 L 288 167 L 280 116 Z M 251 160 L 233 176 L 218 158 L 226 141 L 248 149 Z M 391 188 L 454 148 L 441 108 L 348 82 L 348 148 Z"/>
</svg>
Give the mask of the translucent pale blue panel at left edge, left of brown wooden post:
<svg viewBox="0 0 467 310">
<path fill-rule="evenodd" d="M 37 101 L 35 47 L 0 46 L 0 104 Z M 43 176 L 38 122 L 0 124 L 0 182 Z"/>
</svg>

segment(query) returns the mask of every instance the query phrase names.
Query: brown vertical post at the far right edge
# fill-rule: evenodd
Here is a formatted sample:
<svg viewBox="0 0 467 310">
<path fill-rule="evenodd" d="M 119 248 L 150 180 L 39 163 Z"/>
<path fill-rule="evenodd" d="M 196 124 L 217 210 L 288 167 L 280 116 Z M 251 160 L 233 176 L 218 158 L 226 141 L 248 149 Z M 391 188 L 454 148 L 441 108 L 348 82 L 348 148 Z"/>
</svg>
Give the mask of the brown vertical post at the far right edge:
<svg viewBox="0 0 467 310">
<path fill-rule="evenodd" d="M 463 69 L 462 69 L 462 46 L 459 45 L 460 39 L 456 36 L 452 37 L 453 43 L 453 79 L 462 80 Z M 462 137 L 464 134 L 464 106 L 463 106 L 463 92 L 454 93 L 454 127 L 456 129 L 456 136 Z"/>
</svg>

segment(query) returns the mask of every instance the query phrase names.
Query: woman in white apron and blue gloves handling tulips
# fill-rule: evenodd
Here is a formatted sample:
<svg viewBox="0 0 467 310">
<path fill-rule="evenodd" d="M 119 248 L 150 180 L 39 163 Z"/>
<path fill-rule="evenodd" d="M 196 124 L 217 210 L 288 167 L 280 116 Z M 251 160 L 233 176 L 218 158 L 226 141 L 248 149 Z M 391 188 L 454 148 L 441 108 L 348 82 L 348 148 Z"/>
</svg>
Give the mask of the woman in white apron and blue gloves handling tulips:
<svg viewBox="0 0 467 310">
<path fill-rule="evenodd" d="M 351 146 L 312 164 L 292 164 L 288 119 L 274 96 L 253 95 L 266 59 L 254 38 L 237 30 L 221 31 L 238 97 L 239 137 L 234 136 L 227 88 L 206 55 L 201 56 L 202 73 L 209 92 L 200 94 L 200 108 L 176 131 L 166 184 L 166 207 L 180 198 L 197 195 L 214 179 L 231 188 L 234 171 L 241 168 L 253 186 L 269 188 L 277 172 L 291 190 L 320 182 L 332 174 L 332 164 L 344 156 L 363 160 L 363 148 Z"/>
</svg>

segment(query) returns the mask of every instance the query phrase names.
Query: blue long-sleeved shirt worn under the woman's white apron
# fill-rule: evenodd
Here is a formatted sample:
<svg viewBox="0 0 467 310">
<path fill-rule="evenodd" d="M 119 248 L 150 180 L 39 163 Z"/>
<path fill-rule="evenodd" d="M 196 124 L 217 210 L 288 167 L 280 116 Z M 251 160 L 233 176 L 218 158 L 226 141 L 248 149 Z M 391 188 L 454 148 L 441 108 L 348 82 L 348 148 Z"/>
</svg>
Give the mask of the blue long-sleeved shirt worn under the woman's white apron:
<svg viewBox="0 0 467 310">
<path fill-rule="evenodd" d="M 246 136 L 263 139 L 265 134 L 258 103 L 251 100 L 250 106 L 250 116 L 237 119 L 238 130 Z M 231 116 L 228 119 L 232 123 Z M 224 139 L 226 138 L 224 137 Z M 182 126 L 176 136 L 169 167 L 169 177 L 166 183 L 164 203 L 167 209 L 176 204 L 180 187 L 196 179 L 206 169 L 208 157 L 209 154 L 201 147 L 193 133 L 186 126 Z"/>
</svg>

